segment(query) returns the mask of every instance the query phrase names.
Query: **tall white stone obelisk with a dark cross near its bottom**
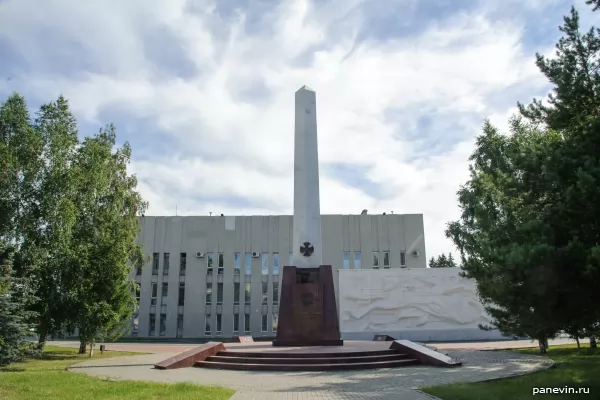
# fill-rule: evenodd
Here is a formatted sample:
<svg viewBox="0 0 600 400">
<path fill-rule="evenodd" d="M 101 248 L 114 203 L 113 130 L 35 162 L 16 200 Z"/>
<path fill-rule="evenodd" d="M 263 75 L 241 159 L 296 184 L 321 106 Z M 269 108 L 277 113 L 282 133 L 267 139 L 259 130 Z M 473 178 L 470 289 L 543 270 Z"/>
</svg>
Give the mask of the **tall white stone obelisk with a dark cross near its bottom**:
<svg viewBox="0 0 600 400">
<path fill-rule="evenodd" d="M 292 245 L 296 267 L 319 268 L 322 264 L 317 104 L 315 92 L 306 86 L 296 92 Z"/>
</svg>

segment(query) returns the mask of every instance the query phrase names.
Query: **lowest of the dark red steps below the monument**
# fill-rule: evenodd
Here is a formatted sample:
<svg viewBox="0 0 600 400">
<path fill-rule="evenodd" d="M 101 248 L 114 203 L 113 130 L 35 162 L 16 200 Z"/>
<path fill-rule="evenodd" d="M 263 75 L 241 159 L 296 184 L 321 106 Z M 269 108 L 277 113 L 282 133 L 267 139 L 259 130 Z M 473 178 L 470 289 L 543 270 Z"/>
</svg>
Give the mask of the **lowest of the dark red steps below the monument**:
<svg viewBox="0 0 600 400">
<path fill-rule="evenodd" d="M 253 360 L 259 361 L 259 360 Z M 323 360 L 326 361 L 326 360 Z M 416 359 L 401 359 L 389 361 L 372 361 L 363 363 L 344 363 L 344 364 L 241 364 L 226 363 L 215 361 L 199 361 L 194 366 L 213 369 L 230 369 L 240 371 L 330 371 L 330 370 L 357 370 L 357 369 L 377 369 L 377 368 L 396 368 L 411 365 L 419 365 Z"/>
</svg>

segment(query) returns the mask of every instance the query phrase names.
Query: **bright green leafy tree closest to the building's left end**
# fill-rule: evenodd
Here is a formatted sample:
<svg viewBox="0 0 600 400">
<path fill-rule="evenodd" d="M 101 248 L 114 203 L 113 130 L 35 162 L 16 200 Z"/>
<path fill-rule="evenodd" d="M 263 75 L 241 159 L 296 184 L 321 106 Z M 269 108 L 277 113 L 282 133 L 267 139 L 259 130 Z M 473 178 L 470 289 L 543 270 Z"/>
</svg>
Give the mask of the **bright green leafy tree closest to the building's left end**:
<svg viewBox="0 0 600 400">
<path fill-rule="evenodd" d="M 137 303 L 129 276 L 132 265 L 143 263 L 136 236 L 146 203 L 135 191 L 135 177 L 127 174 L 131 148 L 126 143 L 113 153 L 115 140 L 112 125 L 86 138 L 76 162 L 79 215 L 72 244 L 73 263 L 82 272 L 77 296 L 82 301 L 75 322 L 92 349 L 96 338 L 120 336 L 130 322 Z"/>
</svg>

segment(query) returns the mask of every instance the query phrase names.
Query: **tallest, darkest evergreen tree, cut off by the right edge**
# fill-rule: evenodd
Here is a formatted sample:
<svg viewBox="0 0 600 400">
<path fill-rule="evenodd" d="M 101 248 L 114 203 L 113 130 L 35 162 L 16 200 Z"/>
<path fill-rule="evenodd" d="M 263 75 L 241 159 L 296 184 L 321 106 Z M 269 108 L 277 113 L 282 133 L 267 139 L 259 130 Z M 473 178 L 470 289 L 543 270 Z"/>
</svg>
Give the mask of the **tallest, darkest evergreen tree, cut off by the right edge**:
<svg viewBox="0 0 600 400">
<path fill-rule="evenodd" d="M 598 1 L 588 1 L 598 9 Z M 548 196 L 555 199 L 546 223 L 556 227 L 553 246 L 563 254 L 560 295 L 564 330 L 578 339 L 600 334 L 600 30 L 583 33 L 571 8 L 560 27 L 556 55 L 537 55 L 537 65 L 554 84 L 547 105 L 519 105 L 521 114 L 559 131 L 546 163 Z M 592 345 L 595 341 L 592 340 Z"/>
</svg>

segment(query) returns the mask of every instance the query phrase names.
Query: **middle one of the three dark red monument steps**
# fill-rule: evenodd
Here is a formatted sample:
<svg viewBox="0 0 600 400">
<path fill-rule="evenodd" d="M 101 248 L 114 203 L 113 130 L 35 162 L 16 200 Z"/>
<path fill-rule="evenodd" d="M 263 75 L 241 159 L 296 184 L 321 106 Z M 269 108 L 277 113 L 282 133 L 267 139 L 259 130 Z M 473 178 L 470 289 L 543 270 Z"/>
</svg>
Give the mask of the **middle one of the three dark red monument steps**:
<svg viewBox="0 0 600 400">
<path fill-rule="evenodd" d="M 226 353 L 225 353 L 226 354 Z M 368 355 L 359 357 L 331 357 L 331 358 L 308 358 L 308 357 L 238 357 L 231 355 L 216 355 L 206 359 L 210 362 L 226 364 L 357 364 L 378 361 L 396 361 L 408 359 L 407 354 L 395 353 L 384 355 Z"/>
</svg>

